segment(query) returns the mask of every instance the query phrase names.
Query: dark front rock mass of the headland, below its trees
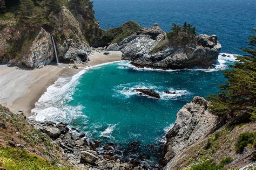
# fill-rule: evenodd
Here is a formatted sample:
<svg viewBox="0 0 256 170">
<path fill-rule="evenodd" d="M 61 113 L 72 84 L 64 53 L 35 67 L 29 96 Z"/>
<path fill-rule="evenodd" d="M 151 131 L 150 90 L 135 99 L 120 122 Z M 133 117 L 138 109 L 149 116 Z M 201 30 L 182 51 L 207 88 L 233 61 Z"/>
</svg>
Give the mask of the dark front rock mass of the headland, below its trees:
<svg viewBox="0 0 256 170">
<path fill-rule="evenodd" d="M 160 69 L 210 68 L 217 63 L 221 45 L 217 36 L 199 35 L 198 44 L 169 47 L 156 54 L 144 55 L 131 63 L 136 67 Z"/>
</svg>

